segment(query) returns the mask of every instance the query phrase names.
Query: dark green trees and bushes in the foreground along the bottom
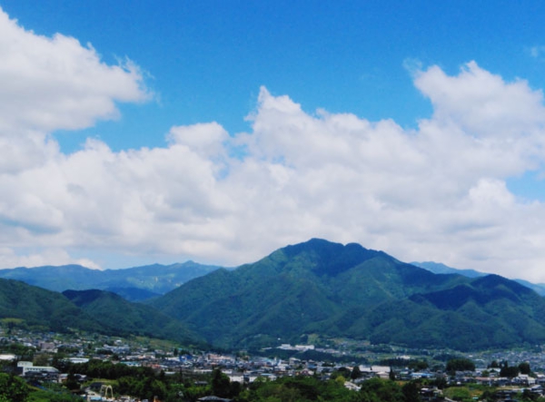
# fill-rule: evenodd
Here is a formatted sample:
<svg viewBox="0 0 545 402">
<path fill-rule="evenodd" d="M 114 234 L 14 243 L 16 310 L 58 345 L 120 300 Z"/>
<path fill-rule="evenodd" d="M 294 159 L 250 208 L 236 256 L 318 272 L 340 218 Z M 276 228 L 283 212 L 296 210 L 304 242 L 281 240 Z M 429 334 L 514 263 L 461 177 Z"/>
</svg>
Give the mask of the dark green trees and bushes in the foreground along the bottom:
<svg viewBox="0 0 545 402">
<path fill-rule="evenodd" d="M 459 359 L 449 362 L 452 369 L 470 368 L 471 362 Z M 501 364 L 500 364 L 501 367 Z M 505 365 L 505 368 L 508 366 Z M 232 398 L 234 402 L 420 402 L 422 388 L 441 388 L 443 397 L 459 402 L 481 400 L 496 402 L 498 389 L 476 384 L 447 387 L 446 382 L 436 379 L 397 381 L 395 378 L 371 378 L 361 383 L 361 389 L 345 387 L 347 379 L 356 379 L 361 373 L 356 368 L 339 368 L 329 379 L 316 376 L 281 377 L 275 380 L 258 378 L 251 384 L 243 385 L 230 381 L 221 369 L 212 374 L 187 377 L 182 372 L 165 375 L 152 368 L 132 368 L 103 360 L 90 360 L 84 364 L 64 364 L 68 379 L 63 384 L 47 384 L 35 387 L 13 374 L 0 374 L 0 402 L 75 402 L 83 398 L 77 393 L 81 388 L 91 385 L 80 384 L 75 374 L 89 378 L 100 378 L 100 382 L 112 385 L 114 394 L 131 395 L 140 399 L 163 402 L 194 402 L 200 397 L 214 395 Z M 526 370 L 526 365 L 518 370 Z M 96 383 L 96 379 L 93 382 Z M 529 389 L 515 396 L 520 402 L 545 402 Z M 438 400 L 438 399 L 426 399 Z"/>
</svg>

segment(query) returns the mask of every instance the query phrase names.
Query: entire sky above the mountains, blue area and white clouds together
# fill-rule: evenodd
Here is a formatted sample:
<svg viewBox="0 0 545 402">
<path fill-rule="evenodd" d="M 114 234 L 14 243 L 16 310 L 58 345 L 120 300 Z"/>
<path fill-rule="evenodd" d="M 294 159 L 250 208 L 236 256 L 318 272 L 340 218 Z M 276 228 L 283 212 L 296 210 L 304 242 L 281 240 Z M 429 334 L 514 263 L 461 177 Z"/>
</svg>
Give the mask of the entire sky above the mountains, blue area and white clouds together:
<svg viewBox="0 0 545 402">
<path fill-rule="evenodd" d="M 2 268 L 323 237 L 545 281 L 541 2 L 0 7 Z"/>
</svg>

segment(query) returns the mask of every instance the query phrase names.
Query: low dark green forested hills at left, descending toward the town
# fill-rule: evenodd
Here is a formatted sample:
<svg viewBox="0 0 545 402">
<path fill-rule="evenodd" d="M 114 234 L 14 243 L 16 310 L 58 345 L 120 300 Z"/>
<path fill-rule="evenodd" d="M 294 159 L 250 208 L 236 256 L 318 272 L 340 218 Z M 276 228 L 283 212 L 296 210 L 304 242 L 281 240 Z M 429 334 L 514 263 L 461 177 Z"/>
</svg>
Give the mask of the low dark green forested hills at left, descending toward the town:
<svg viewBox="0 0 545 402">
<path fill-rule="evenodd" d="M 103 290 L 65 295 L 14 279 L 0 279 L 0 321 L 9 326 L 114 336 L 146 335 L 203 345 L 203 339 L 161 312 Z"/>
</svg>

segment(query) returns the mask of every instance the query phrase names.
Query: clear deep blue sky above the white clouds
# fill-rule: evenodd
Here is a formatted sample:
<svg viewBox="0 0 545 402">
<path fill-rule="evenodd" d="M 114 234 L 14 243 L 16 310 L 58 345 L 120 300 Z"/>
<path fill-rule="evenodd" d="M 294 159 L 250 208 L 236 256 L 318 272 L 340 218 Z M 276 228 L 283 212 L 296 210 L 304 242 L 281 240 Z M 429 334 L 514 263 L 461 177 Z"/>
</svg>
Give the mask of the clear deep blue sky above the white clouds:
<svg viewBox="0 0 545 402">
<path fill-rule="evenodd" d="M 116 150 L 160 145 L 173 123 L 216 121 L 248 130 L 243 117 L 261 85 L 313 113 L 355 113 L 414 126 L 431 106 L 406 62 L 453 74 L 476 60 L 505 79 L 545 85 L 540 2 L 503 1 L 4 1 L 36 34 L 93 44 L 107 63 L 129 57 L 155 102 L 122 106 L 120 121 L 57 138 L 68 151 L 88 135 Z"/>
</svg>

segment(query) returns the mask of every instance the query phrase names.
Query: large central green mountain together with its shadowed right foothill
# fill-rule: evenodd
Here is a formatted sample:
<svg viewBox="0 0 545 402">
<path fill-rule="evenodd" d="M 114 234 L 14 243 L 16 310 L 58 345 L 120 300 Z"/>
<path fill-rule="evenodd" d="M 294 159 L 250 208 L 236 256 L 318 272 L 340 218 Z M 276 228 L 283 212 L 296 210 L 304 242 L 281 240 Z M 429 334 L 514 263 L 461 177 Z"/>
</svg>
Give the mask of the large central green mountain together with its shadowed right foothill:
<svg viewBox="0 0 545 402">
<path fill-rule="evenodd" d="M 433 274 L 318 239 L 216 270 L 150 304 L 223 347 L 308 334 L 460 349 L 545 340 L 545 301 L 514 281 Z"/>
</svg>

